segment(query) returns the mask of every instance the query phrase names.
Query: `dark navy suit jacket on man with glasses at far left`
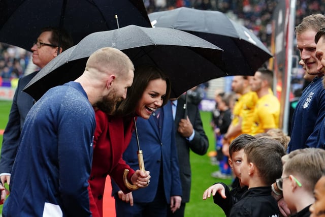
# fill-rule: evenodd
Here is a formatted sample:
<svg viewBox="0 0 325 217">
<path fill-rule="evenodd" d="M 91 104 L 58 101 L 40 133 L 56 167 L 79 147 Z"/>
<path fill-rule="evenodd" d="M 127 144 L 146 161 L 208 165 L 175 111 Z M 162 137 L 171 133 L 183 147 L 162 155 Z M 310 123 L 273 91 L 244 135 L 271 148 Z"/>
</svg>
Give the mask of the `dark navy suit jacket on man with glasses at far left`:
<svg viewBox="0 0 325 217">
<path fill-rule="evenodd" d="M 3 137 L 0 173 L 11 173 L 16 158 L 22 126 L 24 125 L 28 111 L 34 104 L 34 99 L 26 92 L 23 92 L 22 89 L 37 73 L 38 71 L 26 75 L 18 81 Z"/>
</svg>

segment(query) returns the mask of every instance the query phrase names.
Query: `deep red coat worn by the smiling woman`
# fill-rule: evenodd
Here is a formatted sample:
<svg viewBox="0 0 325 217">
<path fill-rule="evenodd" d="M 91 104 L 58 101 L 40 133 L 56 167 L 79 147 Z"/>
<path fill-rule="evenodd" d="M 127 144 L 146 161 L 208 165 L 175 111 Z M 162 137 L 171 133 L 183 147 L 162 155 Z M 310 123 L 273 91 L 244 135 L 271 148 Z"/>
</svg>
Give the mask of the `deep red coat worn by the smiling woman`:
<svg viewBox="0 0 325 217">
<path fill-rule="evenodd" d="M 128 179 L 134 170 L 125 164 L 122 153 L 131 140 L 134 130 L 133 117 L 112 117 L 101 110 L 95 111 L 96 129 L 93 141 L 93 159 L 89 178 L 90 210 L 93 216 L 103 215 L 103 195 L 106 176 L 110 175 L 124 193 L 123 172 L 129 169 Z"/>
</svg>

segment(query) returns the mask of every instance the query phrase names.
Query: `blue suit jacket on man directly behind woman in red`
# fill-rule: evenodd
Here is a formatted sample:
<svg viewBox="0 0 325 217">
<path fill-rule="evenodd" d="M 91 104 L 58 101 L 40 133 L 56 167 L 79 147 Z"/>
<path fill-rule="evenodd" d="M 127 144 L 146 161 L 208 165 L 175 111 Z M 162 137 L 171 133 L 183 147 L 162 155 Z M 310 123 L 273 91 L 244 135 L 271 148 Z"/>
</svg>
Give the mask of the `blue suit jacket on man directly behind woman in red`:
<svg viewBox="0 0 325 217">
<path fill-rule="evenodd" d="M 141 117 L 137 119 L 139 143 L 140 148 L 143 150 L 144 165 L 145 169 L 150 171 L 151 178 L 148 187 L 133 191 L 132 194 L 135 203 L 150 203 L 153 201 L 157 192 L 160 166 L 162 166 L 164 174 L 166 201 L 170 203 L 171 196 L 182 195 L 178 156 L 175 145 L 175 129 L 170 102 L 161 109 L 164 111 L 161 134 L 154 119 L 156 117 L 153 115 L 148 120 Z M 139 169 L 137 151 L 138 145 L 134 133 L 130 144 L 123 153 L 123 159 L 134 170 Z M 119 191 L 119 188 L 117 188 L 114 182 L 112 182 L 112 189 L 113 194 Z"/>
</svg>

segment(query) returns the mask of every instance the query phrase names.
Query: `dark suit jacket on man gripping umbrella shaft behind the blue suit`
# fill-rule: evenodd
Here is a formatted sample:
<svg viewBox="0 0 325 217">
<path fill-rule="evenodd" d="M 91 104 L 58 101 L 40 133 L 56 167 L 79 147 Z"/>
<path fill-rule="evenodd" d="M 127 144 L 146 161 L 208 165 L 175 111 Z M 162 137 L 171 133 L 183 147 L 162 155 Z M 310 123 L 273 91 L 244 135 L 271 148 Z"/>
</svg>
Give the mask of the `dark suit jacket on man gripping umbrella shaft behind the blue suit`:
<svg viewBox="0 0 325 217">
<path fill-rule="evenodd" d="M 177 131 L 179 121 L 184 118 L 184 108 L 185 100 L 183 98 L 179 98 L 177 100 L 177 108 L 175 115 L 175 129 Z M 180 177 L 182 182 L 182 190 L 183 197 L 182 203 L 189 202 L 190 196 L 190 188 L 191 188 L 191 166 L 189 163 L 189 150 L 191 149 L 194 153 L 204 155 L 206 154 L 209 141 L 206 136 L 202 120 L 200 116 L 200 111 L 198 106 L 187 103 L 187 116 L 192 123 L 194 129 L 194 138 L 191 141 L 188 141 L 185 137 L 181 136 L 178 132 L 176 132 L 176 146 L 178 153 L 178 161 L 179 161 L 179 170 Z"/>
</svg>

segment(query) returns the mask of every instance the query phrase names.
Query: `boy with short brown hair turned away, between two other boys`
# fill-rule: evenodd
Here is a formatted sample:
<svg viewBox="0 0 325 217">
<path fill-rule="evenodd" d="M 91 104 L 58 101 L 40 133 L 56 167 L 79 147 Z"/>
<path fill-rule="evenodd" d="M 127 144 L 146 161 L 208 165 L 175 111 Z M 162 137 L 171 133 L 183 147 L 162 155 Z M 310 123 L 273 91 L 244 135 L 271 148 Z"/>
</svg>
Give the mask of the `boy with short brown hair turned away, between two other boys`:
<svg viewBox="0 0 325 217">
<path fill-rule="evenodd" d="M 280 215 L 277 201 L 271 195 L 271 184 L 281 176 L 284 154 L 283 145 L 274 139 L 258 138 L 245 146 L 240 175 L 248 190 L 234 204 L 229 216 Z"/>
</svg>

